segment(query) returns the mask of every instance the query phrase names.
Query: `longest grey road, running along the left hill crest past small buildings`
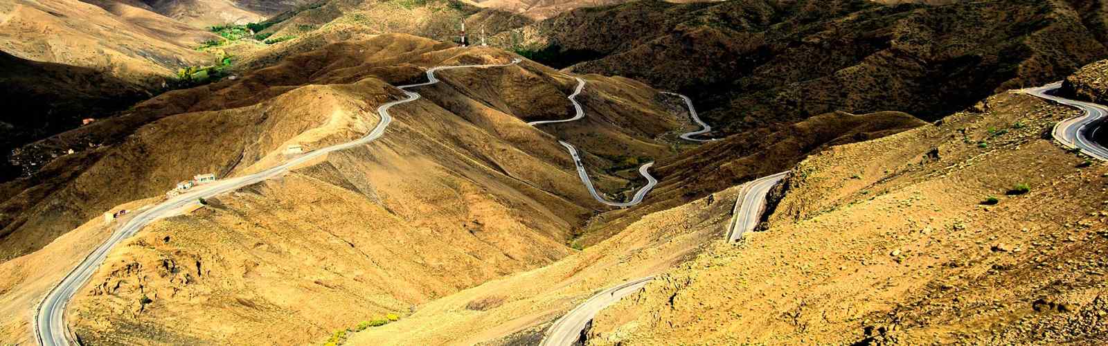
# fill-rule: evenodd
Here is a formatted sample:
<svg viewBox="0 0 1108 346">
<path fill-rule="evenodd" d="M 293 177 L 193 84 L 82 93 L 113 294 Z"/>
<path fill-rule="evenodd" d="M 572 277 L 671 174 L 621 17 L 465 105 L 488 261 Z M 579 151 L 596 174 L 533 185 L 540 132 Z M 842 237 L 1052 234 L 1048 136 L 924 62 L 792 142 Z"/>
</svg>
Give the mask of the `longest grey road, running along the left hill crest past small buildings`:
<svg viewBox="0 0 1108 346">
<path fill-rule="evenodd" d="M 194 187 L 187 193 L 181 194 L 165 202 L 157 204 L 156 206 L 140 213 L 137 216 L 125 223 L 115 233 L 109 237 L 103 244 L 93 250 L 73 271 L 71 271 L 61 283 L 54 286 L 47 296 L 39 304 L 38 309 L 34 314 L 34 335 L 38 338 L 40 345 L 54 346 L 54 345 L 71 345 L 76 344 L 71 342 L 71 333 L 69 327 L 65 325 L 65 307 L 70 299 L 76 294 L 78 289 L 84 286 L 85 283 L 92 277 L 96 268 L 104 262 L 107 257 L 107 253 L 119 245 L 123 240 L 134 235 L 136 232 L 142 230 L 144 226 L 151 222 L 172 216 L 175 211 L 195 203 L 199 203 L 199 199 L 211 197 L 222 193 L 237 190 L 239 187 L 258 183 L 267 179 L 274 177 L 281 173 L 287 172 L 290 167 L 298 164 L 308 162 L 312 159 L 319 157 L 330 152 L 350 149 L 359 145 L 367 144 L 377 140 L 382 134 L 384 130 L 392 122 L 392 116 L 389 115 L 389 109 L 393 105 L 408 103 L 419 100 L 420 94 L 416 92 L 408 91 L 408 88 L 430 85 L 439 82 L 439 79 L 434 77 L 434 72 L 448 70 L 448 69 L 461 69 L 461 68 L 494 68 L 494 67 L 506 67 L 511 64 L 516 64 L 521 59 L 512 60 L 511 63 L 505 64 L 480 64 L 480 65 L 449 65 L 449 67 L 435 67 L 427 71 L 428 81 L 418 84 L 409 84 L 397 86 L 402 90 L 407 95 L 406 99 L 397 100 L 381 104 L 377 108 L 377 113 L 381 116 L 381 121 L 365 136 L 332 146 L 322 147 L 304 155 L 297 156 L 296 159 L 289 160 L 286 163 L 270 167 L 268 170 L 244 175 L 222 181 L 216 181 L 209 184 L 204 184 Z"/>
</svg>

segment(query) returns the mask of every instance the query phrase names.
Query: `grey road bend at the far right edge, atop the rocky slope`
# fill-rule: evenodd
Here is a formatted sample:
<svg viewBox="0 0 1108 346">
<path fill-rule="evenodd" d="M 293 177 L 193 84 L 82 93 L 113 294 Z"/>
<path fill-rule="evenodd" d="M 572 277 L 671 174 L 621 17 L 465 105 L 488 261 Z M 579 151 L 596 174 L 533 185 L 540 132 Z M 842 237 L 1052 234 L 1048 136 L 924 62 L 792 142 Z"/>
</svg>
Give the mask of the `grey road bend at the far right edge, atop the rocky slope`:
<svg viewBox="0 0 1108 346">
<path fill-rule="evenodd" d="M 1055 101 L 1065 105 L 1078 108 L 1085 111 L 1084 115 L 1074 116 L 1058 122 L 1054 126 L 1054 139 L 1058 140 L 1063 146 L 1069 149 L 1080 149 L 1086 155 L 1108 161 L 1108 149 L 1105 149 L 1095 140 L 1100 131 L 1105 115 L 1108 115 L 1108 108 L 1090 102 L 1075 101 L 1050 94 L 1061 88 L 1061 82 L 1050 83 L 1039 88 L 1026 89 L 1023 92 L 1042 99 Z"/>
</svg>

